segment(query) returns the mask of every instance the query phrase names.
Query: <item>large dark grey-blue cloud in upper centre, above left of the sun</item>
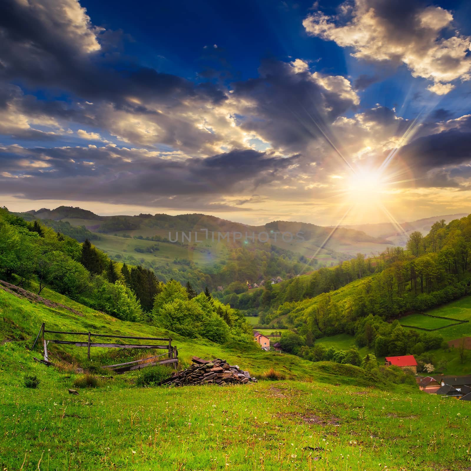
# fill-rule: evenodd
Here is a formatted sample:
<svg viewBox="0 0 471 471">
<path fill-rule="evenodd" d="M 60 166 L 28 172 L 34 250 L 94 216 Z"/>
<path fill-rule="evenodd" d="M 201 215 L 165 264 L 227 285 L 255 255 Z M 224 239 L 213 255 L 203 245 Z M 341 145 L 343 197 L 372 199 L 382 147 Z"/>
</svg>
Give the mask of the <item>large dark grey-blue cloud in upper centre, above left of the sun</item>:
<svg viewBox="0 0 471 471">
<path fill-rule="evenodd" d="M 291 152 L 330 134 L 330 124 L 355 104 L 343 77 L 314 78 L 308 70 L 295 71 L 275 60 L 264 61 L 259 73 L 259 78 L 233 84 L 234 97 L 249 104 L 242 110 L 241 127 Z M 323 80 L 331 81 L 329 87 Z"/>
</svg>

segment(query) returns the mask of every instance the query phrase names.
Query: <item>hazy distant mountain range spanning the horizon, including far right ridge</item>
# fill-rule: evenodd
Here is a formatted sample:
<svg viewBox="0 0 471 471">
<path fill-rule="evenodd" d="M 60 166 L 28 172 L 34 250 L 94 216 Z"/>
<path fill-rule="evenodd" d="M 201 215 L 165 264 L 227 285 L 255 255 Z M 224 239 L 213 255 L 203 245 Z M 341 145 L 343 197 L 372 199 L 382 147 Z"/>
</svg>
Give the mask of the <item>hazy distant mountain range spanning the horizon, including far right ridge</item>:
<svg viewBox="0 0 471 471">
<path fill-rule="evenodd" d="M 100 239 L 108 239 L 109 242 L 109 238 L 113 236 L 147 238 L 167 244 L 169 243 L 167 239 L 172 241 L 178 239 L 182 242 L 182 232 L 184 232 L 186 239 L 183 242 L 194 245 L 197 232 L 199 239 L 196 239 L 196 242 L 201 243 L 201 239 L 206 237 L 204 242 L 207 242 L 209 247 L 211 243 L 218 242 L 218 233 L 222 236 L 227 232 L 230 233 L 231 240 L 227 242 L 232 245 L 241 244 L 246 233 L 249 242 L 252 240 L 250 239 L 252 234 L 255 235 L 256 241 L 261 235 L 260 242 L 266 242 L 268 235 L 270 244 L 304 255 L 308 259 L 322 258 L 325 266 L 335 265 L 338 260 L 353 257 L 357 252 L 371 255 L 382 252 L 387 245 L 405 246 L 408 234 L 415 230 L 426 234 L 437 220 L 445 219 L 448 223 L 466 216 L 464 213 L 436 216 L 404 222 L 398 226 L 392 223 L 378 223 L 333 228 L 293 221 L 272 221 L 252 226 L 196 213 L 177 216 L 142 213 L 137 216 L 99 216 L 91 211 L 71 206 L 59 206 L 53 210 L 41 208 L 21 215 L 26 219 L 61 221 L 74 227 L 82 226 L 87 229 L 87 234 L 90 231 L 95 235 L 94 238 L 98 239 L 96 245 L 98 247 L 102 245 L 104 250 L 108 250 L 112 245 L 100 242 Z M 188 240 L 190 232 L 192 239 Z M 208 237 L 209 239 L 212 237 L 209 242 Z M 225 239 L 222 242 L 225 242 Z"/>
</svg>

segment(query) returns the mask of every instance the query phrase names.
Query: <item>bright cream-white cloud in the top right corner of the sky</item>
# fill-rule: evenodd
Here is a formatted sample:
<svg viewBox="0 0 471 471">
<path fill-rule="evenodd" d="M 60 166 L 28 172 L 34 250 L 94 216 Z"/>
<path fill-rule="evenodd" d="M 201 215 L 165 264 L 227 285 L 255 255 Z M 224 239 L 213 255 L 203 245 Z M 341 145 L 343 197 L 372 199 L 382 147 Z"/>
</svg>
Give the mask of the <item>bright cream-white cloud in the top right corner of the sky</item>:
<svg viewBox="0 0 471 471">
<path fill-rule="evenodd" d="M 354 57 L 405 64 L 414 77 L 433 81 L 428 89 L 439 95 L 454 88 L 449 82 L 469 80 L 470 38 L 459 32 L 447 39 L 442 36 L 453 20 L 449 11 L 418 7 L 394 22 L 390 10 L 384 11 L 385 4 L 388 2 L 356 0 L 352 8 L 343 4 L 337 16 L 322 12 L 309 15 L 303 26 L 312 36 L 353 48 Z"/>
</svg>

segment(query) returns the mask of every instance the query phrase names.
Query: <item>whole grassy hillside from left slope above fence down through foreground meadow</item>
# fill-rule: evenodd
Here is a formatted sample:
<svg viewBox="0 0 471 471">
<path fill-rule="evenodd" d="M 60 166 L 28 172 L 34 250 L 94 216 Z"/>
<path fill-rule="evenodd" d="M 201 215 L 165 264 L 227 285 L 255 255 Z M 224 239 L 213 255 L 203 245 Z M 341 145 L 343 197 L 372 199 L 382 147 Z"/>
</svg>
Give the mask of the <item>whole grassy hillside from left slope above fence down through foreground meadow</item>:
<svg viewBox="0 0 471 471">
<path fill-rule="evenodd" d="M 268 366 L 297 381 L 219 388 L 139 388 L 137 373 L 106 376 L 71 396 L 75 374 L 32 361 L 28 346 L 49 329 L 167 335 L 45 292 L 77 309 L 51 308 L 0 290 L 0 465 L 13 470 L 464 470 L 468 402 L 392 386 L 351 365 L 237 352 L 176 335 L 181 357 L 227 357 L 252 372 Z M 106 359 L 105 354 L 96 357 Z M 86 349 L 51 349 L 83 360 Z M 38 389 L 23 385 L 38 375 Z M 304 380 L 304 381 L 299 381 Z M 393 392 L 390 388 L 394 388 Z M 447 420 L 443 420 L 447 417 Z M 433 427 L 430 427 L 433 423 Z M 457 433 L 458 432 L 458 433 Z"/>
</svg>

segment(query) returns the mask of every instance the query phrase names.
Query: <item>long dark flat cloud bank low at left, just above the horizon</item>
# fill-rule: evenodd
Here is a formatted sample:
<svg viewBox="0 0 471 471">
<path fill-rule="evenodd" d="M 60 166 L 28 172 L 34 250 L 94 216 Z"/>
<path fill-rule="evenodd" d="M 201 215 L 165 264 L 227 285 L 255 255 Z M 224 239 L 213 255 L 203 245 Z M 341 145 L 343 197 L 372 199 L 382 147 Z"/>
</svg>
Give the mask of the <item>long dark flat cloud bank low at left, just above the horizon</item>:
<svg viewBox="0 0 471 471">
<path fill-rule="evenodd" d="M 145 204 L 177 197 L 195 198 L 196 204 L 211 196 L 252 194 L 294 162 L 253 150 L 175 161 L 115 146 L 10 146 L 0 149 L 0 166 L 8 174 L 0 176 L 0 187 L 4 194 L 30 199 L 67 195 L 70 200 Z"/>
</svg>

